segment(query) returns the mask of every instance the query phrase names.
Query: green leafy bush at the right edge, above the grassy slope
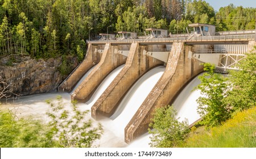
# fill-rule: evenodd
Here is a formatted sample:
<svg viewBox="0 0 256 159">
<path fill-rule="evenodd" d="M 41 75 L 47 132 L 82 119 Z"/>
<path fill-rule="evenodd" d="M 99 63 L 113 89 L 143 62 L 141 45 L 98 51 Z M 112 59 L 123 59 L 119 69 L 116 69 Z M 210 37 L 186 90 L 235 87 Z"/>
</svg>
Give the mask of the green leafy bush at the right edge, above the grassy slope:
<svg viewBox="0 0 256 159">
<path fill-rule="evenodd" d="M 226 104 L 242 111 L 256 105 L 256 51 L 246 54 L 238 71 L 230 72 L 230 86 Z"/>
</svg>

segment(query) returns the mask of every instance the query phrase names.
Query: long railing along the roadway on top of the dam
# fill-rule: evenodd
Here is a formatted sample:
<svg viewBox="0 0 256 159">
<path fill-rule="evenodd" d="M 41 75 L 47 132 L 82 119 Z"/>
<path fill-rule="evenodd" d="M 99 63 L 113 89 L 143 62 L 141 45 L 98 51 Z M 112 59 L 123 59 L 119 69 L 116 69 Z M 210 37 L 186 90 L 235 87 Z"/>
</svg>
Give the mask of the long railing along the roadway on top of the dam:
<svg viewBox="0 0 256 159">
<path fill-rule="evenodd" d="M 166 38 L 155 38 L 155 39 L 125 39 L 125 40 L 97 40 L 87 41 L 93 44 L 104 44 L 104 43 L 164 43 L 164 42 L 189 42 L 189 41 L 252 41 L 255 40 L 254 34 L 245 35 L 219 35 L 219 36 L 193 36 L 190 39 L 188 37 L 166 37 Z"/>
</svg>

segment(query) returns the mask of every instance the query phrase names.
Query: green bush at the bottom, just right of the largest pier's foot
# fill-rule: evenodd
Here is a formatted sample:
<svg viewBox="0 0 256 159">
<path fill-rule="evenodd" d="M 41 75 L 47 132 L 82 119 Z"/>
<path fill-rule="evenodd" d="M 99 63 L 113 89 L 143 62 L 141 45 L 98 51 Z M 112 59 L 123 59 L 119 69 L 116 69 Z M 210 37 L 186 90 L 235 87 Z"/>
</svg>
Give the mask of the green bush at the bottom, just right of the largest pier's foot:
<svg viewBox="0 0 256 159">
<path fill-rule="evenodd" d="M 148 129 L 148 132 L 152 135 L 151 147 L 177 147 L 189 133 L 188 120 L 179 122 L 173 106 L 157 108 L 150 127 L 152 129 Z"/>
</svg>

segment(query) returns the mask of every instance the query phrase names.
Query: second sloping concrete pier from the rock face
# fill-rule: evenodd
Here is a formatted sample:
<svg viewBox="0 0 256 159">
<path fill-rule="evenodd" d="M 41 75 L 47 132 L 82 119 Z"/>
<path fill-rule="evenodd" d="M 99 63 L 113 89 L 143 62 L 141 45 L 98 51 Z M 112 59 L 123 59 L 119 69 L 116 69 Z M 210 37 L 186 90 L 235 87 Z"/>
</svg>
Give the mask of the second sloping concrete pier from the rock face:
<svg viewBox="0 0 256 159">
<path fill-rule="evenodd" d="M 75 99 L 80 102 L 88 101 L 104 78 L 108 76 L 113 69 L 125 64 L 127 57 L 114 53 L 114 49 L 118 49 L 118 46 L 113 46 L 111 44 L 105 45 L 101 61 L 72 93 L 72 101 Z"/>
</svg>

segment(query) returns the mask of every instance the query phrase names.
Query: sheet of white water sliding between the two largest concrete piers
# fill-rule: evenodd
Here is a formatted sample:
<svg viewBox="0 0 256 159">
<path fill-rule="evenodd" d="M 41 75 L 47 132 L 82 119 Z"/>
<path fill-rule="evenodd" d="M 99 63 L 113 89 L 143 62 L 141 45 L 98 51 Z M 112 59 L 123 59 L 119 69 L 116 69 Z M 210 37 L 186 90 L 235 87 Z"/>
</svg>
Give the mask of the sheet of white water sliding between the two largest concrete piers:
<svg viewBox="0 0 256 159">
<path fill-rule="evenodd" d="M 117 133 L 119 137 L 122 137 L 123 140 L 126 125 L 130 122 L 131 118 L 133 118 L 133 115 L 153 89 L 156 82 L 158 82 L 164 70 L 164 66 L 159 66 L 139 78 L 125 95 L 125 98 L 123 98 L 122 102 L 119 104 L 117 111 L 110 117 L 110 119 L 113 120 L 111 125 L 115 130 L 114 132 Z"/>
</svg>

